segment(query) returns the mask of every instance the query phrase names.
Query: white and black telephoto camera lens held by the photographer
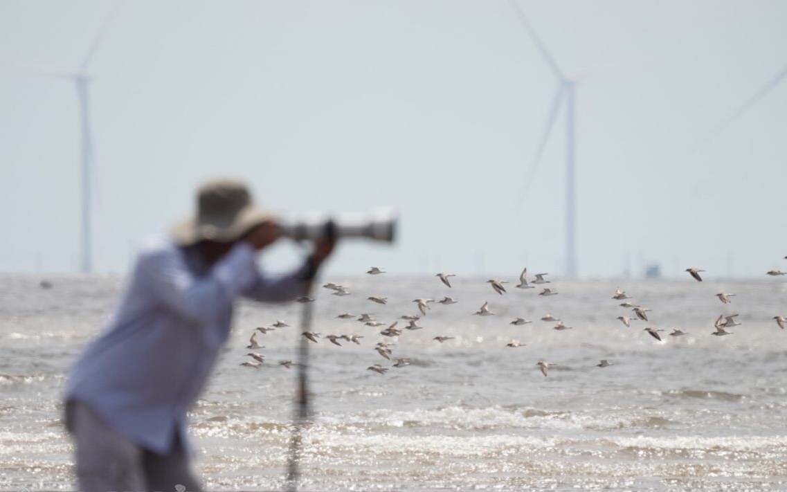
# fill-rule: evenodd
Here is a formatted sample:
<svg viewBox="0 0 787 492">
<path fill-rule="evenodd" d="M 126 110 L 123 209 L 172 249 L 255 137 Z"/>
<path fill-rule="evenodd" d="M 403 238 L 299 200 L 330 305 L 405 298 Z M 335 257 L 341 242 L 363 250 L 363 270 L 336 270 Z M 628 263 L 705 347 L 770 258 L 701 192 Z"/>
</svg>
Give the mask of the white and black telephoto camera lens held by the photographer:
<svg viewBox="0 0 787 492">
<path fill-rule="evenodd" d="M 340 213 L 324 216 L 306 213 L 279 219 L 283 235 L 295 241 L 322 238 L 365 238 L 379 242 L 393 242 L 397 216 L 389 209 L 368 213 Z"/>
</svg>

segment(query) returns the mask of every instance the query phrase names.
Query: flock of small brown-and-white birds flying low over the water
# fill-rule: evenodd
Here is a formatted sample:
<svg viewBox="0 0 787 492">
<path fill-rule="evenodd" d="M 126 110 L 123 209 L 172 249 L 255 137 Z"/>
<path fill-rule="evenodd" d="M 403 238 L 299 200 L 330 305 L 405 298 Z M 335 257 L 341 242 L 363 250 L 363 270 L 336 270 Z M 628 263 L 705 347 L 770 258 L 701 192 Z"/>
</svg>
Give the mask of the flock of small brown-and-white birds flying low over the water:
<svg viewBox="0 0 787 492">
<path fill-rule="evenodd" d="M 785 259 L 787 259 L 787 257 L 785 257 Z M 704 270 L 701 270 L 700 268 L 686 268 L 685 272 L 689 272 L 689 275 L 691 275 L 693 277 L 693 279 L 695 279 L 697 282 L 702 282 L 703 281 L 702 277 L 700 276 L 700 273 L 704 272 Z M 368 273 L 368 275 L 380 275 L 380 274 L 383 274 L 383 273 L 386 273 L 386 272 L 383 272 L 381 269 L 379 269 L 377 267 L 371 267 L 369 269 L 369 271 L 366 272 L 366 273 Z M 548 275 L 549 275 L 548 273 L 538 273 L 538 274 L 535 275 L 534 279 L 532 279 L 530 282 L 528 282 L 528 280 L 527 280 L 527 268 L 524 268 L 522 273 L 519 275 L 519 283 L 515 287 L 519 288 L 519 289 L 532 289 L 536 285 L 541 285 L 541 284 L 545 284 L 545 283 L 551 283 L 549 280 L 546 280 L 544 278 L 545 276 L 548 276 Z M 784 276 L 784 275 L 787 275 L 787 272 L 781 272 L 780 270 L 770 270 L 769 272 L 767 272 L 767 275 L 769 275 L 769 276 Z M 442 283 L 445 284 L 446 287 L 451 288 L 451 282 L 450 282 L 449 279 L 451 277 L 454 277 L 455 275 L 451 274 L 451 273 L 438 273 L 435 276 L 438 277 L 442 281 Z M 503 295 L 503 294 L 506 293 L 506 290 L 505 290 L 505 287 L 504 287 L 503 284 L 504 283 L 508 283 L 507 280 L 489 279 L 489 280 L 486 281 L 486 283 L 489 283 L 490 286 L 492 287 L 492 289 L 495 292 L 497 292 L 497 294 Z M 329 283 L 326 283 L 325 285 L 323 285 L 323 287 L 326 288 L 326 289 L 333 290 L 334 292 L 332 293 L 332 295 L 335 295 L 335 296 L 350 295 L 349 289 L 347 287 L 342 287 L 341 285 L 338 285 L 337 283 L 329 282 Z M 557 295 L 558 294 L 558 292 L 556 290 L 554 290 L 554 289 L 552 289 L 550 287 L 541 287 L 541 289 L 542 289 L 541 292 L 538 293 L 538 295 L 541 295 L 541 296 L 545 296 L 546 297 L 546 296 L 552 296 L 552 295 Z M 715 294 L 715 297 L 719 298 L 719 301 L 721 301 L 724 304 L 730 304 L 730 302 L 731 302 L 730 298 L 734 297 L 734 296 L 735 296 L 735 294 L 730 294 L 730 293 L 726 293 L 726 292 L 719 292 L 719 294 Z M 368 301 L 375 302 L 377 304 L 382 304 L 382 305 L 385 305 L 385 304 L 388 303 L 388 298 L 384 298 L 384 297 L 381 297 L 381 296 L 374 296 L 373 295 L 373 296 L 369 296 L 367 299 L 368 299 Z M 632 315 L 630 315 L 630 316 L 622 315 L 622 316 L 618 316 L 616 318 L 617 320 L 620 320 L 621 323 L 626 325 L 626 327 L 630 327 L 631 326 L 631 322 L 634 321 L 634 320 L 642 320 L 642 321 L 646 321 L 646 322 L 648 321 L 648 314 L 647 313 L 649 311 L 651 311 L 651 309 L 645 308 L 642 305 L 638 305 L 638 304 L 635 304 L 633 302 L 628 301 L 628 299 L 631 299 L 631 297 L 628 296 L 624 290 L 615 289 L 615 294 L 612 295 L 612 299 L 623 301 L 623 303 L 620 304 L 620 306 L 623 307 L 623 308 L 627 308 L 627 309 L 631 309 L 632 310 L 632 312 L 633 312 Z M 297 301 L 298 302 L 312 302 L 312 301 L 314 301 L 314 299 L 309 298 L 309 297 L 302 297 L 302 298 L 298 298 Z M 427 316 L 427 312 L 431 309 L 431 306 L 430 306 L 431 303 L 436 302 L 436 303 L 442 304 L 442 305 L 456 304 L 456 300 L 453 299 L 453 298 L 450 298 L 448 296 L 445 296 L 440 301 L 434 301 L 434 299 L 427 299 L 427 298 L 418 298 L 418 299 L 414 299 L 412 302 L 416 303 L 416 305 L 418 307 L 418 310 L 421 313 L 420 316 L 419 315 L 404 315 L 404 316 L 401 316 L 400 319 L 401 320 L 405 320 L 408 323 L 405 327 L 397 328 L 397 324 L 398 324 L 398 320 L 397 320 L 397 321 L 394 321 L 393 324 L 390 324 L 390 326 L 382 329 L 382 331 L 379 332 L 379 335 L 382 335 L 382 336 L 385 336 L 385 337 L 398 337 L 399 335 L 401 335 L 403 333 L 403 330 L 414 331 L 414 330 L 423 329 L 423 327 L 419 326 L 418 320 L 420 320 L 421 316 Z M 493 316 L 495 313 L 492 313 L 490 311 L 489 301 L 486 301 L 478 309 L 478 311 L 476 311 L 473 314 L 474 315 L 478 315 L 478 316 Z M 715 320 L 715 323 L 714 323 L 715 331 L 712 331 L 711 335 L 715 335 L 715 336 L 733 335 L 733 332 L 732 331 L 728 331 L 728 329 L 730 327 L 735 327 L 735 326 L 741 325 L 741 323 L 738 323 L 737 320 L 735 319 L 737 316 L 738 316 L 737 314 L 731 314 L 729 316 L 725 316 L 723 314 L 720 315 L 719 318 L 717 318 Z M 350 318 L 355 318 L 356 315 L 350 314 L 350 313 L 342 313 L 342 314 L 339 314 L 336 317 L 337 318 L 341 318 L 341 319 L 350 319 Z M 778 324 L 778 327 L 780 327 L 782 330 L 785 328 L 785 324 L 787 324 L 787 316 L 777 315 L 777 316 L 773 316 L 773 319 L 776 320 L 776 323 Z M 360 321 L 361 323 L 363 323 L 365 326 L 368 326 L 368 327 L 382 327 L 382 326 L 385 325 L 385 323 L 382 323 L 382 322 L 380 322 L 378 320 L 375 320 L 372 317 L 372 315 L 369 314 L 369 313 L 361 314 L 360 316 L 357 317 L 357 320 Z M 563 324 L 562 320 L 559 320 L 555 316 L 552 316 L 552 314 L 550 314 L 550 313 L 546 314 L 545 316 L 542 316 L 541 317 L 541 321 L 555 322 L 556 325 L 554 327 L 552 327 L 552 328 L 555 329 L 555 330 L 558 330 L 558 331 L 571 330 L 572 329 L 572 327 L 566 326 L 565 324 Z M 515 326 L 520 326 L 520 325 L 523 325 L 523 324 L 530 324 L 530 323 L 532 323 L 532 321 L 525 320 L 524 318 L 521 318 L 521 317 L 517 317 L 517 318 L 515 318 L 515 320 L 512 320 L 509 324 L 512 324 L 512 325 L 515 325 Z M 246 348 L 250 349 L 250 350 L 256 350 L 256 349 L 264 348 L 263 346 L 260 346 L 259 341 L 257 339 L 258 332 L 259 332 L 259 334 L 264 335 L 264 334 L 268 333 L 268 331 L 272 331 L 272 330 L 275 330 L 276 328 L 288 327 L 288 326 L 290 326 L 290 325 L 286 324 L 284 321 L 276 320 L 275 324 L 273 324 L 272 327 L 257 327 L 254 330 L 253 334 L 251 335 L 251 338 L 249 339 L 249 345 L 246 346 Z M 653 338 L 656 338 L 656 340 L 662 341 L 660 332 L 664 331 L 663 329 L 656 328 L 656 327 L 645 327 L 645 329 L 643 331 L 646 331 Z M 305 338 L 308 338 L 309 341 L 314 342 L 314 343 L 317 343 L 318 339 L 321 336 L 320 333 L 316 333 L 314 331 L 305 331 L 301 335 L 304 336 Z M 682 335 L 687 335 L 687 333 L 685 331 L 678 330 L 678 328 L 674 328 L 669 335 L 673 336 L 673 337 L 679 337 L 679 336 L 682 336 Z M 323 338 L 327 339 L 328 341 L 330 341 L 334 345 L 342 346 L 342 344 L 339 342 L 340 340 L 341 341 L 345 341 L 345 342 L 352 342 L 352 343 L 355 343 L 357 345 L 360 345 L 360 338 L 364 338 L 364 337 L 362 335 L 325 335 Z M 448 340 L 452 340 L 453 338 L 454 337 L 438 335 L 438 336 L 436 336 L 436 337 L 434 337 L 432 339 L 437 341 L 437 342 L 442 343 L 442 342 L 446 342 Z M 379 355 L 381 357 L 384 357 L 386 360 L 392 361 L 393 362 L 392 366 L 395 367 L 395 368 L 401 368 L 401 367 L 404 367 L 404 366 L 410 364 L 409 359 L 406 359 L 406 358 L 393 358 L 393 359 L 391 359 L 391 356 L 393 355 L 393 349 L 391 349 L 391 346 L 393 346 L 393 345 L 394 344 L 391 343 L 391 342 L 378 342 L 375 345 L 374 350 L 377 353 L 379 353 Z M 512 339 L 510 342 L 508 342 L 506 344 L 506 346 L 512 347 L 512 348 L 516 348 L 516 347 L 520 347 L 520 346 L 525 346 L 525 344 L 520 343 L 518 340 Z M 246 353 L 246 356 L 253 358 L 254 362 L 251 362 L 251 361 L 243 362 L 241 364 L 243 366 L 253 367 L 253 368 L 260 368 L 260 365 L 264 364 L 264 356 L 262 354 L 260 354 L 260 353 L 249 352 L 249 353 Z M 286 368 L 291 368 L 293 365 L 297 365 L 297 363 L 294 362 L 294 361 L 279 361 L 279 364 L 283 365 Z M 557 364 L 552 363 L 552 362 L 547 362 L 547 361 L 538 361 L 538 363 L 536 364 L 536 366 L 538 366 L 538 368 L 541 370 L 541 373 L 543 375 L 545 375 L 545 376 L 547 375 L 547 372 L 549 371 L 549 368 L 552 368 L 555 365 L 557 365 Z M 601 360 L 596 365 L 599 368 L 605 368 L 605 367 L 608 367 L 609 365 L 611 365 L 611 363 L 609 361 L 607 361 L 607 360 Z M 383 367 L 381 364 L 373 364 L 373 365 L 368 367 L 368 370 L 374 371 L 374 372 L 378 372 L 379 374 L 385 374 L 388 371 L 388 368 Z"/>
</svg>

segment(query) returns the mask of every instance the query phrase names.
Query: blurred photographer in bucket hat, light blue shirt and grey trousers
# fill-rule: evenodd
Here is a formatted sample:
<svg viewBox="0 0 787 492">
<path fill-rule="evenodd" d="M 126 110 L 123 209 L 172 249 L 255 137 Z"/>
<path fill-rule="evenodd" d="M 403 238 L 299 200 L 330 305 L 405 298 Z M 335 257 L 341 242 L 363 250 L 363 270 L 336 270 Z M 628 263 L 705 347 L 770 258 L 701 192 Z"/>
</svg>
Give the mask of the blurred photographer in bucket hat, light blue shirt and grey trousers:
<svg viewBox="0 0 787 492">
<path fill-rule="evenodd" d="M 255 253 L 279 239 L 242 183 L 198 191 L 198 213 L 142 248 L 113 316 L 74 364 L 65 390 L 79 490 L 200 490 L 186 412 L 229 335 L 234 301 L 305 293 L 334 242 L 316 243 L 290 275 L 260 272 Z"/>
</svg>

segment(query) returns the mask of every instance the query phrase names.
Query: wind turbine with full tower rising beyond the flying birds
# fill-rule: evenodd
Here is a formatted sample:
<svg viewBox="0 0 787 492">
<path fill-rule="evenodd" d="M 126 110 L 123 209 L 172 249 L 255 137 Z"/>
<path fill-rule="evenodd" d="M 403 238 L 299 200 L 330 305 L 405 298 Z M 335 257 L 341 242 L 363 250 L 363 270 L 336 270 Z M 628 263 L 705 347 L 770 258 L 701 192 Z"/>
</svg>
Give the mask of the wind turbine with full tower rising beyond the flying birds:
<svg viewBox="0 0 787 492">
<path fill-rule="evenodd" d="M 566 76 L 557 65 L 555 58 L 549 54 L 544 43 L 536 34 L 533 26 L 528 22 L 527 17 L 515 0 L 508 0 L 519 19 L 519 23 L 523 25 L 525 31 L 533 40 L 538 52 L 544 57 L 547 65 L 552 70 L 557 79 L 557 87 L 555 95 L 552 98 L 552 105 L 549 109 L 544 130 L 541 132 L 541 139 L 538 141 L 536 152 L 533 161 L 530 164 L 530 172 L 528 173 L 527 180 L 524 182 L 522 193 L 519 194 L 519 205 L 517 209 L 521 208 L 524 199 L 527 197 L 527 192 L 530 190 L 530 184 L 533 183 L 538 164 L 541 161 L 541 154 L 544 153 L 546 142 L 549 139 L 549 134 L 552 132 L 557 113 L 560 111 L 560 105 L 565 101 L 566 103 L 566 276 L 577 276 L 577 244 L 576 244 L 576 155 L 575 155 L 575 89 L 578 80 Z"/>
</svg>

